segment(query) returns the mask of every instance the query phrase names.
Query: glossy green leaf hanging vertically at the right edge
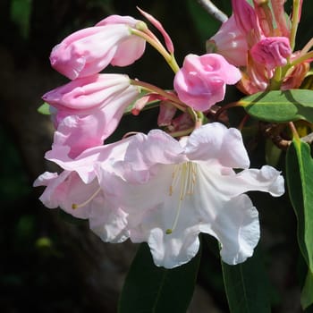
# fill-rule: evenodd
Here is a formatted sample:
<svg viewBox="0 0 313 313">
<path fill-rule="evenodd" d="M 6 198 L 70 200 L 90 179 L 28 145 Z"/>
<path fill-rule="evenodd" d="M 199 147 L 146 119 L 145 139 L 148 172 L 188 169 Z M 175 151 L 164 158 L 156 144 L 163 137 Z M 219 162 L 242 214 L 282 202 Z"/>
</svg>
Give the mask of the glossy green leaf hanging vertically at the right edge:
<svg viewBox="0 0 313 313">
<path fill-rule="evenodd" d="M 313 159 L 309 145 L 292 140 L 286 155 L 286 179 L 298 220 L 300 251 L 313 273 Z"/>
</svg>

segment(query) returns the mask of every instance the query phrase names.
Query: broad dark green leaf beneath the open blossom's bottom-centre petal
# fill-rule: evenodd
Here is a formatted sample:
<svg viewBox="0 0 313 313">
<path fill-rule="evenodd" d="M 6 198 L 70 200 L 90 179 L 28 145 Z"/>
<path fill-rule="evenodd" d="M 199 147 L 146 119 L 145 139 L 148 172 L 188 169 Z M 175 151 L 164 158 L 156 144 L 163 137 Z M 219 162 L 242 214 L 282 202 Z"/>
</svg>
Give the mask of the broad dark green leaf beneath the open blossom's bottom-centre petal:
<svg viewBox="0 0 313 313">
<path fill-rule="evenodd" d="M 146 243 L 134 258 L 119 301 L 119 313 L 186 312 L 194 291 L 200 253 L 189 263 L 166 269 L 155 266 Z"/>
</svg>

